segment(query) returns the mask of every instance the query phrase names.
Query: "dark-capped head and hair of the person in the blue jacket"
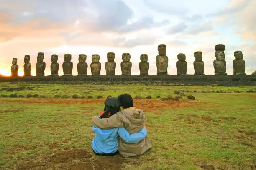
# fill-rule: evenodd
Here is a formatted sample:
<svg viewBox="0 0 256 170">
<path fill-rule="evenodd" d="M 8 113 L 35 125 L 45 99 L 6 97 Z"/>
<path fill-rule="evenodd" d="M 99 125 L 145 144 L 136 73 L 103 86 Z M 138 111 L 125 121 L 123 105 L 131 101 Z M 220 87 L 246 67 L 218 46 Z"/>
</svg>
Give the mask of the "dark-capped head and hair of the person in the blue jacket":
<svg viewBox="0 0 256 170">
<path fill-rule="evenodd" d="M 116 97 L 108 97 L 105 100 L 104 104 L 105 104 L 104 113 L 103 115 L 100 116 L 101 118 L 110 117 L 115 113 L 117 113 L 118 111 L 120 111 L 121 109 L 120 101 Z"/>
</svg>

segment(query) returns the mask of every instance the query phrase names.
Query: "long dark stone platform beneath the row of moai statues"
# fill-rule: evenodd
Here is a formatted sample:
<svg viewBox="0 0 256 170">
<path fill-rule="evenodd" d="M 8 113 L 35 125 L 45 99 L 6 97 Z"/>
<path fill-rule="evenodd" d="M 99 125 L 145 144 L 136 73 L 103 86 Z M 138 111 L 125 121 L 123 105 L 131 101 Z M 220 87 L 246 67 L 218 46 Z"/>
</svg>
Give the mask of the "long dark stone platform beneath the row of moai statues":
<svg viewBox="0 0 256 170">
<path fill-rule="evenodd" d="M 144 82 L 154 84 L 164 82 L 176 85 L 256 85 L 256 75 L 149 75 L 149 76 L 16 76 L 0 77 L 0 82 L 56 82 L 56 81 L 84 81 L 84 82 Z M 116 84 L 115 83 L 115 84 Z"/>
</svg>

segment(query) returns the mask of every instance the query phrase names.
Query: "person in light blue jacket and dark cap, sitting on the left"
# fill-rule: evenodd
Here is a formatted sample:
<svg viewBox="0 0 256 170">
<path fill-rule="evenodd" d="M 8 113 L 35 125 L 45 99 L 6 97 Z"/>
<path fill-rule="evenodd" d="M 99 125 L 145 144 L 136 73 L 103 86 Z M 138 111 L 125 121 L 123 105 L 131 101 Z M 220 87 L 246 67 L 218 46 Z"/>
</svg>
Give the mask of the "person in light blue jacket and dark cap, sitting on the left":
<svg viewBox="0 0 256 170">
<path fill-rule="evenodd" d="M 105 108 L 99 118 L 108 118 L 120 110 L 121 104 L 118 98 L 109 97 L 104 102 Z M 100 129 L 92 126 L 95 137 L 92 140 L 92 150 L 96 155 L 114 156 L 118 154 L 118 137 L 127 143 L 138 143 L 146 137 L 147 131 L 142 128 L 138 133 L 130 134 L 124 127 L 112 129 Z"/>
</svg>

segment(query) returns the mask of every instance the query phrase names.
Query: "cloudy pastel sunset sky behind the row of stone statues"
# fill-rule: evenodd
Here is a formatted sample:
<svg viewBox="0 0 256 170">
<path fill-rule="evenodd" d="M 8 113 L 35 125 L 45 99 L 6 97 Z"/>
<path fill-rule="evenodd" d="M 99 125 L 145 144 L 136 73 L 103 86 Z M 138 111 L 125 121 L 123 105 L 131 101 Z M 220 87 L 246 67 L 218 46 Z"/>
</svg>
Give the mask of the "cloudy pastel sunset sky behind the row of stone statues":
<svg viewBox="0 0 256 170">
<path fill-rule="evenodd" d="M 176 75 L 177 54 L 184 53 L 187 74 L 194 74 L 194 52 L 202 51 L 205 74 L 213 75 L 215 45 L 225 44 L 227 73 L 233 74 L 233 52 L 242 51 L 246 73 L 256 70 L 256 0 L 0 0 L 0 74 L 10 75 L 18 58 L 30 55 L 31 75 L 36 57 L 44 52 L 45 75 L 51 55 L 72 54 L 73 75 L 78 55 L 86 54 L 91 75 L 92 54 L 100 55 L 105 75 L 107 52 L 115 53 L 116 75 L 122 54 L 131 54 L 132 75 L 139 75 L 141 54 L 148 54 L 149 74 L 156 75 L 157 46 L 166 44 L 168 74 Z"/>
</svg>

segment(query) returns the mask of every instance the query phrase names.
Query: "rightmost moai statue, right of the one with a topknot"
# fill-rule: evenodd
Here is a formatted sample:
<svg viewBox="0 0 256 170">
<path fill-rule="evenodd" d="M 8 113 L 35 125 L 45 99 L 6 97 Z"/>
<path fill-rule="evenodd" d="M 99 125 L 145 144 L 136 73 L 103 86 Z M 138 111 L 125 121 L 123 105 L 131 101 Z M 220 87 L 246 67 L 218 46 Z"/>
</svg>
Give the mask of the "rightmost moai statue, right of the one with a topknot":
<svg viewBox="0 0 256 170">
<path fill-rule="evenodd" d="M 234 75 L 246 75 L 245 61 L 243 60 L 243 53 L 241 51 L 234 52 L 235 60 L 233 60 Z"/>
</svg>

